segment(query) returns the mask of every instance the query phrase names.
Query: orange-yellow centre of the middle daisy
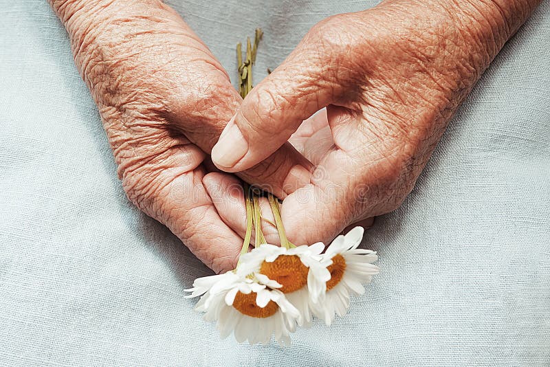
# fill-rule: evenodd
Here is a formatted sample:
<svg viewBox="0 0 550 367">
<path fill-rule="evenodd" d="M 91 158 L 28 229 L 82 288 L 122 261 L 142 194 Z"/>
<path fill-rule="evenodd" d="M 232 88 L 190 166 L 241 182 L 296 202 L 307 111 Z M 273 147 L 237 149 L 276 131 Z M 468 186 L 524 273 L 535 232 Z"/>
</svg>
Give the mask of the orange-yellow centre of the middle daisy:
<svg viewBox="0 0 550 367">
<path fill-rule="evenodd" d="M 272 263 L 263 262 L 260 273 L 275 280 L 283 287 L 279 290 L 283 293 L 298 291 L 307 285 L 307 267 L 296 255 L 281 255 Z"/>
</svg>

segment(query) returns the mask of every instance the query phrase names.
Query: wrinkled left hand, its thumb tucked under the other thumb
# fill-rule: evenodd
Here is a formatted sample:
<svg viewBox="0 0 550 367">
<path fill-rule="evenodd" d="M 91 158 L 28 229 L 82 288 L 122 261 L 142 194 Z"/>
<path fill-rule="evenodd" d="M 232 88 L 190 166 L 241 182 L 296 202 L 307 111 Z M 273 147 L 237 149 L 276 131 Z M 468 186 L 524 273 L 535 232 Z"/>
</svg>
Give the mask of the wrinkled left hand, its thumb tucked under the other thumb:
<svg viewBox="0 0 550 367">
<path fill-rule="evenodd" d="M 98 104 L 129 199 L 170 228 L 206 265 L 215 271 L 232 269 L 245 217 L 220 216 L 205 188 L 236 180 L 208 175 L 216 171 L 208 153 L 242 101 L 228 74 L 162 1 L 65 0 L 52 5 Z M 273 173 L 272 167 L 278 170 Z M 285 190 L 302 184 L 299 173 L 309 168 L 285 144 L 241 177 L 269 184 L 284 196 Z M 215 199 L 217 205 L 230 201 Z"/>
</svg>

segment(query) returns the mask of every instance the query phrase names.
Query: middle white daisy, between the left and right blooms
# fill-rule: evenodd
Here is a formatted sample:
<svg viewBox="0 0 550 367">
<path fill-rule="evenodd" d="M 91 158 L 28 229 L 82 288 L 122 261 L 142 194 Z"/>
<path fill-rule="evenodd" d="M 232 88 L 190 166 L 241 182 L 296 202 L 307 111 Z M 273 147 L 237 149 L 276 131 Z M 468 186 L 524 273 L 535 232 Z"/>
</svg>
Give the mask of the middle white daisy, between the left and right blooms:
<svg viewBox="0 0 550 367">
<path fill-rule="evenodd" d="M 281 285 L 278 290 L 300 311 L 296 322 L 299 326 L 307 326 L 311 322 L 311 303 L 323 298 L 330 280 L 327 267 L 331 259 L 321 256 L 323 249 L 323 243 L 289 248 L 264 244 L 241 259 L 246 264 L 246 271 Z"/>
</svg>

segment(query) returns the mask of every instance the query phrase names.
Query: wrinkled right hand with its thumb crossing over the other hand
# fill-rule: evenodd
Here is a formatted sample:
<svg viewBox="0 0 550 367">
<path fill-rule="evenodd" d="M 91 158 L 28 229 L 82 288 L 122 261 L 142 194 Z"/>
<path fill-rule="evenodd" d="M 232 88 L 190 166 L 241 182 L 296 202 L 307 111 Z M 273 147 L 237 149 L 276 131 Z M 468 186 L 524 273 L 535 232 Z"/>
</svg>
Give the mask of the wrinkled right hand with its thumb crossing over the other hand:
<svg viewBox="0 0 550 367">
<path fill-rule="evenodd" d="M 311 183 L 283 201 L 297 244 L 329 241 L 351 223 L 390 212 L 536 3 L 395 0 L 332 16 L 245 98 L 212 160 L 238 172 L 290 139 L 316 165 Z"/>
</svg>

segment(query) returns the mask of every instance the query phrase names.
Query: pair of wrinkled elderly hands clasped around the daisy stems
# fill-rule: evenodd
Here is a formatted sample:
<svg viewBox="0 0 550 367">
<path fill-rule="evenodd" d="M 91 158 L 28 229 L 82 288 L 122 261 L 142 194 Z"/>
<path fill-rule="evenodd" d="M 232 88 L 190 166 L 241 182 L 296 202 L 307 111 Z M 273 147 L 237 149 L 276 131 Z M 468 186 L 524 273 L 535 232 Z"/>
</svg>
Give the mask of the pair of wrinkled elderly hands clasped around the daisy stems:
<svg viewBox="0 0 550 367">
<path fill-rule="evenodd" d="M 397 208 L 456 107 L 537 2 L 503 1 L 395 0 L 332 16 L 245 100 L 162 1 L 52 5 L 129 199 L 224 271 L 245 233 L 240 179 L 284 199 L 297 244 L 329 241 Z M 277 241 L 267 222 L 264 232 Z"/>
</svg>

